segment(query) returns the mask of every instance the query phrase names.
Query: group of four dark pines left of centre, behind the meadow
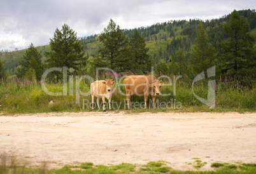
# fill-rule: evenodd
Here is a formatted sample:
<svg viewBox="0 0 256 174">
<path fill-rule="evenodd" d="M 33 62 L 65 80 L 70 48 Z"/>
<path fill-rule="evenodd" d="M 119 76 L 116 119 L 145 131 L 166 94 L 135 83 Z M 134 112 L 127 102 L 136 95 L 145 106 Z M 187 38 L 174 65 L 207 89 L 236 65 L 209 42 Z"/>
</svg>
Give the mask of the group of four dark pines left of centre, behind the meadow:
<svg viewBox="0 0 256 174">
<path fill-rule="evenodd" d="M 68 74 L 81 74 L 87 64 L 90 64 L 90 70 L 108 67 L 117 72 L 137 69 L 145 73 L 149 71 L 151 62 L 148 48 L 138 30 L 128 39 L 120 27 L 110 20 L 108 27 L 99 34 L 99 41 L 101 46 L 97 54 L 88 62 L 89 55 L 85 54 L 81 39 L 65 23 L 62 29 L 57 28 L 50 38 L 51 51 L 44 52 L 45 62 L 42 61 L 41 53 L 31 43 L 19 62 L 17 76 L 40 80 L 44 70 L 51 67 L 68 67 Z M 62 72 L 52 72 L 50 76 L 59 81 L 62 79 Z"/>
</svg>

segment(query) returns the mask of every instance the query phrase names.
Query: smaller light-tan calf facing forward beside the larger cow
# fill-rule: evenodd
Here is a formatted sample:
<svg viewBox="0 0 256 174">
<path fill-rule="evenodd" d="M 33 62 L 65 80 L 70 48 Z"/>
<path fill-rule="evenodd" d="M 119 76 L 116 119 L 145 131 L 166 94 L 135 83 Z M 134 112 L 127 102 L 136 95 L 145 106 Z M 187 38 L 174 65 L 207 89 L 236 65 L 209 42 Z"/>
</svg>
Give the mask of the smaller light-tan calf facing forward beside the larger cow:
<svg viewBox="0 0 256 174">
<path fill-rule="evenodd" d="M 111 109 L 111 97 L 113 93 L 113 87 L 112 84 L 115 82 L 113 79 L 106 79 L 101 81 L 94 81 L 92 84 L 90 84 L 90 95 L 92 95 L 92 109 L 94 109 L 94 97 L 97 97 L 97 105 L 99 108 L 99 99 L 103 99 L 103 112 L 106 112 L 105 109 L 105 97 L 108 99 L 108 104 Z"/>
</svg>

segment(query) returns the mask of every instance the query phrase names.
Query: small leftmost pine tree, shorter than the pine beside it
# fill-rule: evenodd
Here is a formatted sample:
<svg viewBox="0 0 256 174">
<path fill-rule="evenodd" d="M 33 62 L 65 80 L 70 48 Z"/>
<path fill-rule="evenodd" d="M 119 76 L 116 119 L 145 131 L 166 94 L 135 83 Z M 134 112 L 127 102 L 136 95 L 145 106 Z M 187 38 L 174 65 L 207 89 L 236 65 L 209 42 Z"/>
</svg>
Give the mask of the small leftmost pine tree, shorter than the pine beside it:
<svg viewBox="0 0 256 174">
<path fill-rule="evenodd" d="M 24 77 L 26 72 L 29 69 L 34 69 L 36 72 L 36 79 L 41 79 L 43 74 L 43 63 L 41 53 L 34 48 L 34 45 L 31 43 L 27 51 L 25 51 L 25 55 L 22 57 L 19 64 L 20 67 L 17 69 L 17 76 Z"/>
</svg>

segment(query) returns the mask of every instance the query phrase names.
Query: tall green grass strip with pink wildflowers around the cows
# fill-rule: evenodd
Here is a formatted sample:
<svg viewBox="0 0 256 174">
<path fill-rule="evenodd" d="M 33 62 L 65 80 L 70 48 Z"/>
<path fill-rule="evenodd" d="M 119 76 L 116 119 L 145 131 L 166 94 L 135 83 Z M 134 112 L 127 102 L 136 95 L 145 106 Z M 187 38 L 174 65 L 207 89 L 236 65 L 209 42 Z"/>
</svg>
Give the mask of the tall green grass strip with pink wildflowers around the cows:
<svg viewBox="0 0 256 174">
<path fill-rule="evenodd" d="M 127 109 L 123 81 L 124 77 L 120 77 L 115 83 L 117 90 L 111 102 L 114 111 Z M 5 82 L 0 81 L 0 111 L 7 114 L 91 111 L 90 81 L 80 81 L 79 88 L 76 84 L 78 83 L 75 80 L 68 81 L 65 87 L 62 82 L 48 81 L 45 83 L 46 89 L 52 93 L 60 93 L 58 96 L 52 96 L 43 90 L 41 81 L 17 77 Z M 156 109 L 153 109 L 152 97 L 148 97 L 148 109 L 144 109 L 144 97 L 134 96 L 132 109 L 127 112 L 255 112 L 255 87 L 253 80 L 250 87 L 241 86 L 232 79 L 218 80 L 215 85 L 215 107 L 210 108 L 196 98 L 196 95 L 208 98 L 208 81 L 195 83 L 193 88 L 189 79 L 179 79 L 176 83 L 165 81 L 161 93 L 166 96 L 157 96 Z M 64 90 L 67 91 L 66 95 Z M 102 105 L 101 102 L 101 108 L 96 110 L 102 111 Z"/>
</svg>

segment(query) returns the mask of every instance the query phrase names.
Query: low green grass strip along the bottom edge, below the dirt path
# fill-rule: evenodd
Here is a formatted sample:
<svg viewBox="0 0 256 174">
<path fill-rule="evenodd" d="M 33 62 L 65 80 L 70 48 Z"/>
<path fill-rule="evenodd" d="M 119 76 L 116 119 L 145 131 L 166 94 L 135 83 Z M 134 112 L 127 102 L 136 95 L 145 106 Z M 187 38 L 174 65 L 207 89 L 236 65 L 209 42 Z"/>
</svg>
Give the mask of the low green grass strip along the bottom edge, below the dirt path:
<svg viewBox="0 0 256 174">
<path fill-rule="evenodd" d="M 27 168 L 24 166 L 17 166 L 12 163 L 10 166 L 6 166 L 4 161 L 0 165 L 0 173 L 255 173 L 256 164 L 229 164 L 229 163 L 212 163 L 211 171 L 195 170 L 180 171 L 173 170 L 171 163 L 166 161 L 151 161 L 142 166 L 136 166 L 134 164 L 122 163 L 113 166 L 94 165 L 93 163 L 82 163 L 80 165 L 71 166 L 66 165 L 60 169 L 48 170 L 43 168 Z"/>
</svg>

